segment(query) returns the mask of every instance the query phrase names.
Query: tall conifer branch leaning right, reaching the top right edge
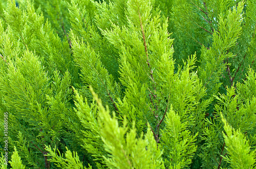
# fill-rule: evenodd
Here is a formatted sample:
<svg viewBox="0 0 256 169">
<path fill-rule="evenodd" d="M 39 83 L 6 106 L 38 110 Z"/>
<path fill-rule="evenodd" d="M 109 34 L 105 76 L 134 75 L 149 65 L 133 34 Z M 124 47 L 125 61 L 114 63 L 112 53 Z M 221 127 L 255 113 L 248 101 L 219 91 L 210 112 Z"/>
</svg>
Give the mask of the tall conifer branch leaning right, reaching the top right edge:
<svg viewBox="0 0 256 169">
<path fill-rule="evenodd" d="M 242 10 L 244 3 L 239 3 L 237 10 L 228 11 L 224 16 L 218 17 L 218 33 L 215 31 L 212 35 L 212 45 L 206 50 L 202 48 L 201 66 L 198 73 L 207 87 L 207 94 L 216 94 L 221 83 L 219 78 L 221 72 L 227 67 L 228 63 L 223 61 L 232 58 L 232 52 L 227 52 L 229 48 L 236 44 L 238 36 L 241 34 Z M 222 13 L 221 13 L 222 14 Z M 206 73 L 207 72 L 207 73 Z"/>
</svg>

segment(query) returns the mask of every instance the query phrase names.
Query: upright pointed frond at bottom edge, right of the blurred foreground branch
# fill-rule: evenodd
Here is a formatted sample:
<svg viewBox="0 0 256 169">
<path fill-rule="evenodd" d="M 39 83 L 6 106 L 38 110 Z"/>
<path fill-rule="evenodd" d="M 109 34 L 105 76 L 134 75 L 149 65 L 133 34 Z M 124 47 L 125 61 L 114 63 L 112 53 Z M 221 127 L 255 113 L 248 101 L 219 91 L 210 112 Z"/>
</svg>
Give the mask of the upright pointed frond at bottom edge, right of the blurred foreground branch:
<svg viewBox="0 0 256 169">
<path fill-rule="evenodd" d="M 166 166 L 169 168 L 183 168 L 191 163 L 191 157 L 197 147 L 196 136 L 191 136 L 186 130 L 187 123 L 181 123 L 180 116 L 170 108 L 166 116 L 166 128 L 162 131 L 162 142 L 166 153 Z M 170 160 L 171 159 L 171 160 Z"/>
</svg>

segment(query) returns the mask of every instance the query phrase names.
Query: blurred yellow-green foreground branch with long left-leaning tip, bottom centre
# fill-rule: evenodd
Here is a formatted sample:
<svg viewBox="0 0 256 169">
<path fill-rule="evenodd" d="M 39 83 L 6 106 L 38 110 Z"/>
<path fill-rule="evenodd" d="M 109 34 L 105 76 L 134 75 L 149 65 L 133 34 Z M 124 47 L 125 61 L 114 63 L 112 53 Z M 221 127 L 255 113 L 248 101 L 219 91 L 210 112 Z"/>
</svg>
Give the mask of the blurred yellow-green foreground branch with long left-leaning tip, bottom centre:
<svg viewBox="0 0 256 169">
<path fill-rule="evenodd" d="M 136 138 L 135 123 L 133 122 L 133 127 L 127 132 L 129 128 L 124 117 L 122 127 L 119 127 L 115 113 L 111 118 L 109 107 L 105 110 L 98 96 L 94 91 L 92 93 L 98 103 L 101 139 L 105 151 L 111 154 L 109 158 L 103 156 L 106 165 L 109 168 L 163 168 L 162 152 L 157 147 L 150 127 L 144 136 L 141 133 L 139 138 Z"/>
</svg>

